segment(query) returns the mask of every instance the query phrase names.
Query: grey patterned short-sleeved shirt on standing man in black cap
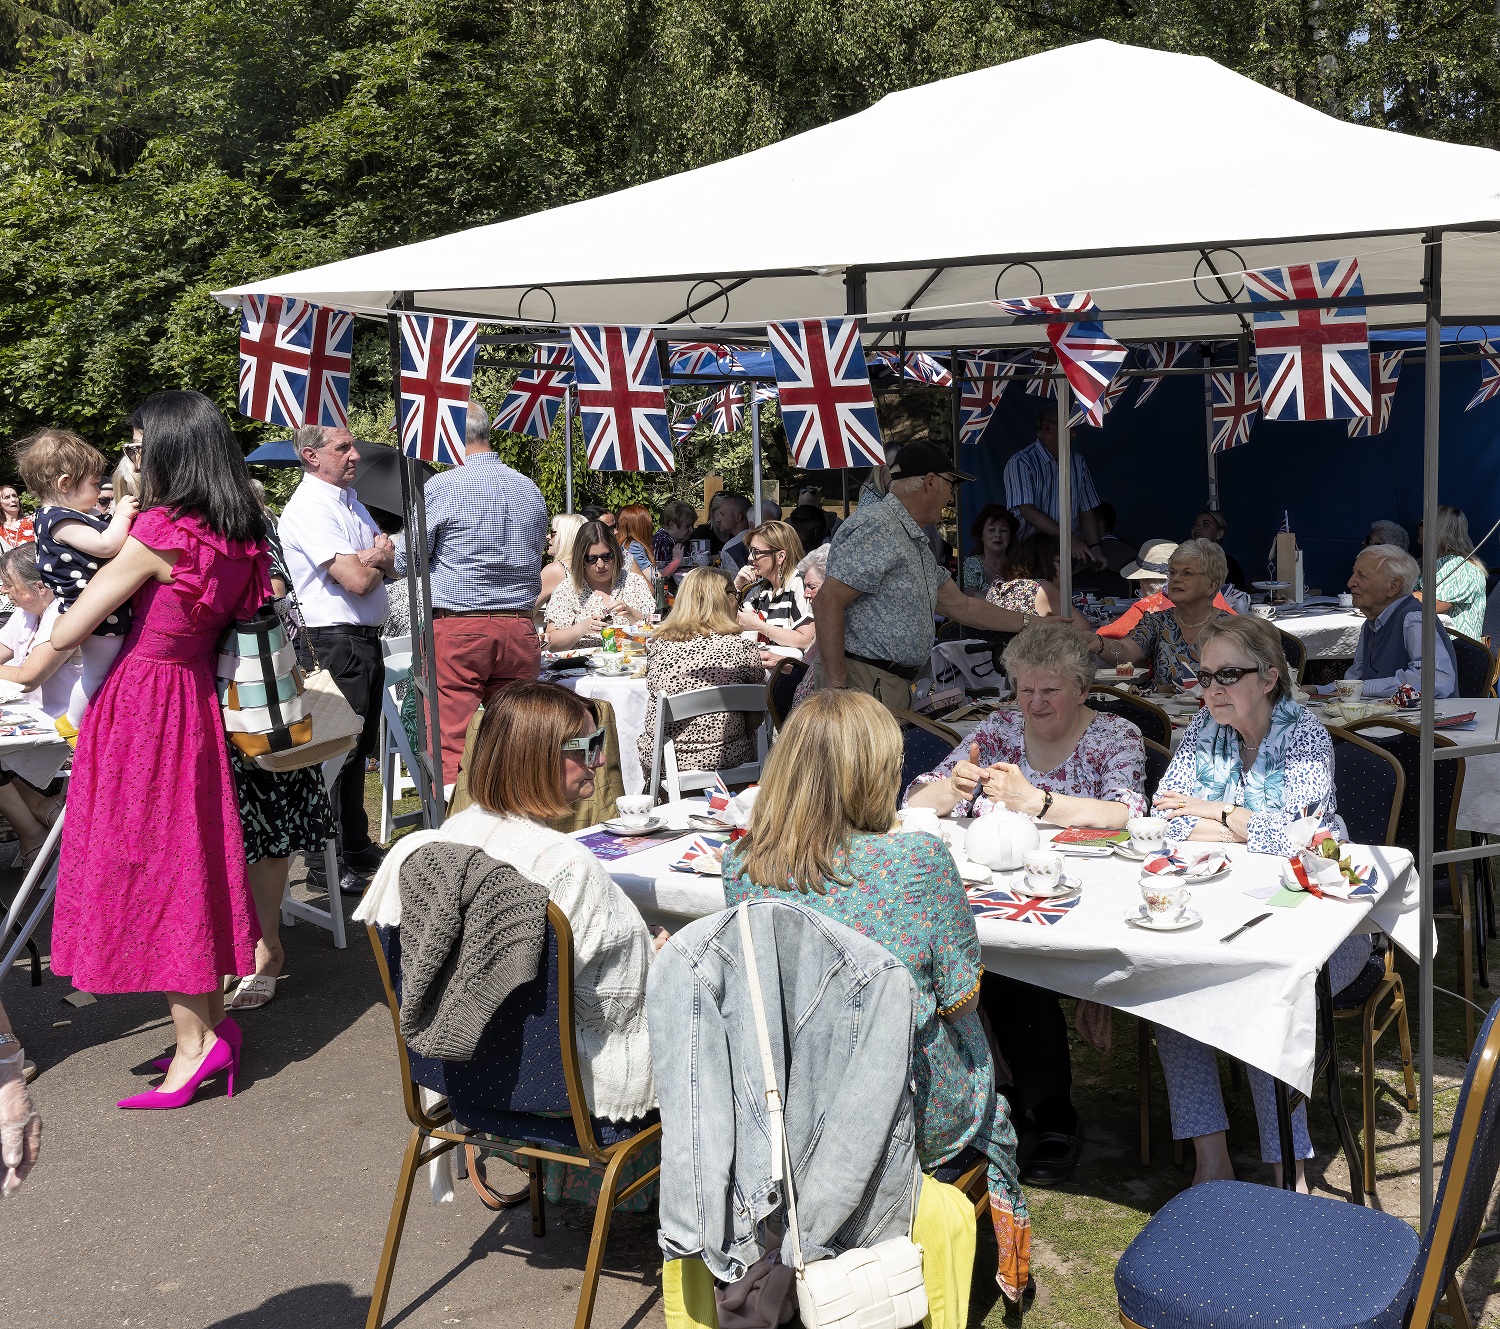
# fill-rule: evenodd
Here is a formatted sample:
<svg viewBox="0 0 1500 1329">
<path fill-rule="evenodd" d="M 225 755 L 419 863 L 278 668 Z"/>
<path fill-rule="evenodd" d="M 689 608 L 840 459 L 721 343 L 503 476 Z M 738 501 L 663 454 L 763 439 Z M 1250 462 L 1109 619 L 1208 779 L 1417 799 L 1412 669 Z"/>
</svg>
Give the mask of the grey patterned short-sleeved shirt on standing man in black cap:
<svg viewBox="0 0 1500 1329">
<path fill-rule="evenodd" d="M 844 610 L 849 654 L 912 668 L 927 663 L 938 591 L 948 570 L 938 566 L 927 536 L 897 495 L 861 501 L 834 532 L 828 576 L 861 592 Z"/>
</svg>

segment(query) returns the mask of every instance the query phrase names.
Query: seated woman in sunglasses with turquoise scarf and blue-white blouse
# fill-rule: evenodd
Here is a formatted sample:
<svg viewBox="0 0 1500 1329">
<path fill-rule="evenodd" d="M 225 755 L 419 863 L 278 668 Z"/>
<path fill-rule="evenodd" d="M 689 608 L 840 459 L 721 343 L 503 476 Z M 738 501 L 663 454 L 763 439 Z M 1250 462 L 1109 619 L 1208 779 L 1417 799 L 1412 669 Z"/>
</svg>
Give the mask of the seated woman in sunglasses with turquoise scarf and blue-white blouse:
<svg viewBox="0 0 1500 1329">
<path fill-rule="evenodd" d="M 1221 618 L 1198 639 L 1203 710 L 1156 790 L 1156 810 L 1170 818 L 1170 840 L 1248 844 L 1257 854 L 1293 850 L 1287 826 L 1318 816 L 1344 834 L 1335 807 L 1334 744 L 1328 730 L 1292 700 L 1287 658 L 1276 630 L 1258 618 Z M 1329 958 L 1334 992 L 1347 987 L 1370 958 L 1370 938 L 1346 940 Z M 1192 1140 L 1192 1182 L 1232 1180 L 1228 1118 L 1214 1048 L 1156 1026 L 1156 1050 L 1172 1101 L 1172 1134 Z M 1281 1185 L 1281 1136 L 1269 1076 L 1250 1068 L 1260 1125 L 1260 1155 Z M 1312 1156 L 1306 1107 L 1292 1119 L 1298 1190 L 1306 1191 L 1304 1160 Z"/>
</svg>

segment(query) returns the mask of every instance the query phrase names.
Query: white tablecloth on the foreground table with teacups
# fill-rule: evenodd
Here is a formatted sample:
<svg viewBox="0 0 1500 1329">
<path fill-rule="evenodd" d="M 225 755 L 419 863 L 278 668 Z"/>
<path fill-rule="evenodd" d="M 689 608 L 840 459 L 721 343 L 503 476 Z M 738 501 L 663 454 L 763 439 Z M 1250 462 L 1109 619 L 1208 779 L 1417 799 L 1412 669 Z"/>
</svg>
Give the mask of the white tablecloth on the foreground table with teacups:
<svg viewBox="0 0 1500 1329">
<path fill-rule="evenodd" d="M 699 801 L 672 804 L 668 822 L 687 826 Z M 588 832 L 584 832 L 588 834 Z M 686 840 L 606 862 L 650 921 L 668 926 L 724 908 L 718 878 L 672 872 Z M 1053 927 L 978 920 L 986 968 L 1074 998 L 1088 998 L 1179 1029 L 1308 1092 L 1312 1083 L 1318 969 L 1354 932 L 1380 928 L 1414 952 L 1419 944 L 1416 873 L 1402 849 L 1372 848 L 1382 896 L 1368 904 L 1308 898 L 1269 909 L 1245 894 L 1276 880 L 1281 860 L 1227 846 L 1234 870 L 1194 888 L 1197 927 L 1154 933 L 1125 922 L 1140 904 L 1140 868 L 1120 858 L 1070 858 L 1083 900 Z M 1228 945 L 1226 933 L 1257 914 L 1264 922 Z"/>
</svg>

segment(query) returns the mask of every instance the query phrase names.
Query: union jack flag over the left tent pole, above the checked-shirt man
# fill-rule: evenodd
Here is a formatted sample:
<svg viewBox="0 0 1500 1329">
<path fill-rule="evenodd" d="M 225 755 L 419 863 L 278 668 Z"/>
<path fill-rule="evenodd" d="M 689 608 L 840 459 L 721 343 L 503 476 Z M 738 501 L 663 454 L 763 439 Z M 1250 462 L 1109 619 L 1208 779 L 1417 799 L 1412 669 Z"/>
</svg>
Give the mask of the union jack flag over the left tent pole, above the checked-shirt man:
<svg viewBox="0 0 1500 1329">
<path fill-rule="evenodd" d="M 464 465 L 477 348 L 474 320 L 400 315 L 400 450 L 408 458 Z"/>
</svg>

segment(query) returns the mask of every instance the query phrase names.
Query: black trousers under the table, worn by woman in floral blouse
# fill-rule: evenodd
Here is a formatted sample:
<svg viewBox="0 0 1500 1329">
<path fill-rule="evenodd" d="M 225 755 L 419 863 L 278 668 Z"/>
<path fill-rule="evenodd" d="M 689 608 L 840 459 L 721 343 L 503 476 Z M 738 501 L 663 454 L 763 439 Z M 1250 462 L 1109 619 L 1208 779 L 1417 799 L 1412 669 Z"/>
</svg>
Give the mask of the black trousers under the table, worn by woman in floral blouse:
<svg viewBox="0 0 1500 1329">
<path fill-rule="evenodd" d="M 1000 1092 L 1017 1128 L 1029 1112 L 1038 1131 L 1071 1136 L 1078 1114 L 1072 1110 L 1072 1058 L 1060 1000 L 1054 992 L 1000 974 L 987 972 L 980 981 L 980 1004 L 1016 1082 Z"/>
</svg>

